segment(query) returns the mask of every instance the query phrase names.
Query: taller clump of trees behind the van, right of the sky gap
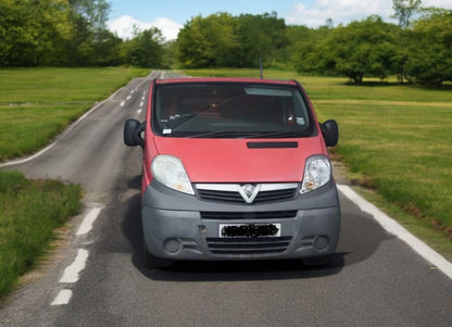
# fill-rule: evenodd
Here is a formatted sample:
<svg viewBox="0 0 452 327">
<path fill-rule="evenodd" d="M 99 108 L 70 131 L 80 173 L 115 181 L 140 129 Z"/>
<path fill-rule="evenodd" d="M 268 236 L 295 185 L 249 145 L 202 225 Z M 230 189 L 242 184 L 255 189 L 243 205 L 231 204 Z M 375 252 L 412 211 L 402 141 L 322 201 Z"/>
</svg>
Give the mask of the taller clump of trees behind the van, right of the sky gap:
<svg viewBox="0 0 452 327">
<path fill-rule="evenodd" d="M 268 67 L 300 73 L 441 85 L 452 81 L 452 11 L 423 9 L 419 0 L 394 0 L 399 24 L 371 15 L 360 22 L 319 28 L 286 25 L 276 13 L 197 16 L 176 41 L 184 67 Z"/>
</svg>

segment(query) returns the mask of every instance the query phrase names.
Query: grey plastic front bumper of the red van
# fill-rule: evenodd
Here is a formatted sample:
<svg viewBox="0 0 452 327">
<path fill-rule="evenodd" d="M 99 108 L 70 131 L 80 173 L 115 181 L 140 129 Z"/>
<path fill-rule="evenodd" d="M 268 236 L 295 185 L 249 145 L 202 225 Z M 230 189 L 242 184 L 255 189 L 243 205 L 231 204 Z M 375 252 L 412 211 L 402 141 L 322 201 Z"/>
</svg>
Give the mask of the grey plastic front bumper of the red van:
<svg viewBox="0 0 452 327">
<path fill-rule="evenodd" d="M 153 181 L 143 193 L 141 214 L 148 251 L 172 260 L 327 255 L 336 250 L 340 231 L 339 199 L 332 183 L 293 200 L 250 205 L 203 201 Z M 280 234 L 224 238 L 219 237 L 222 224 L 278 224 Z"/>
</svg>

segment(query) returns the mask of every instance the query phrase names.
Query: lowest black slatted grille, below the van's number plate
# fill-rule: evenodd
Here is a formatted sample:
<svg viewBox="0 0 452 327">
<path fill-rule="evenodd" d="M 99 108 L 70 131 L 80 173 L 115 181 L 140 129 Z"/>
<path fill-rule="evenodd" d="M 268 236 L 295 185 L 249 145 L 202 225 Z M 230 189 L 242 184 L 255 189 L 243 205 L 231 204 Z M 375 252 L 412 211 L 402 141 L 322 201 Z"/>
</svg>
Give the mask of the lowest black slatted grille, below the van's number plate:
<svg viewBox="0 0 452 327">
<path fill-rule="evenodd" d="M 292 237 L 208 238 L 209 250 L 214 254 L 259 255 L 286 251 Z"/>
</svg>

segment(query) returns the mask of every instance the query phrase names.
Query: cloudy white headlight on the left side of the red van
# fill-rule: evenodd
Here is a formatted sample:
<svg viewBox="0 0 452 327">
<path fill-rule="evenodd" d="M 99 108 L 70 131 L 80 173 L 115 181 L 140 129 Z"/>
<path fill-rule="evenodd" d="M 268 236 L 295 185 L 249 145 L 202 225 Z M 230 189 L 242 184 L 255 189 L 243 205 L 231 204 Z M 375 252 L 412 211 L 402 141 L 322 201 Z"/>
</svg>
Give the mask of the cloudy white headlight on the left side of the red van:
<svg viewBox="0 0 452 327">
<path fill-rule="evenodd" d="M 151 173 L 164 186 L 193 196 L 190 179 L 183 163 L 172 155 L 158 155 L 152 161 Z"/>
</svg>

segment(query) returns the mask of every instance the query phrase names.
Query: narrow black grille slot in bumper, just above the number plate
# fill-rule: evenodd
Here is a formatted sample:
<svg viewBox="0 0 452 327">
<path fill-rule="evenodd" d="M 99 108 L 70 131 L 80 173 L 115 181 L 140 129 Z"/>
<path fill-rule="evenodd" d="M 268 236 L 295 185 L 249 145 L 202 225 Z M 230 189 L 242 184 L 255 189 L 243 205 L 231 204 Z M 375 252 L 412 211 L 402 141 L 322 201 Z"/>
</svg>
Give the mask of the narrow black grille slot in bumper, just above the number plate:
<svg viewBox="0 0 452 327">
<path fill-rule="evenodd" d="M 297 210 L 288 211 L 262 211 L 262 212 L 217 212 L 202 211 L 202 219 L 215 221 L 252 221 L 252 219 L 287 219 L 294 218 Z"/>
</svg>

